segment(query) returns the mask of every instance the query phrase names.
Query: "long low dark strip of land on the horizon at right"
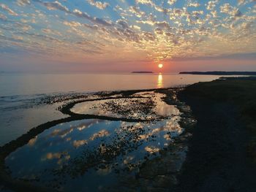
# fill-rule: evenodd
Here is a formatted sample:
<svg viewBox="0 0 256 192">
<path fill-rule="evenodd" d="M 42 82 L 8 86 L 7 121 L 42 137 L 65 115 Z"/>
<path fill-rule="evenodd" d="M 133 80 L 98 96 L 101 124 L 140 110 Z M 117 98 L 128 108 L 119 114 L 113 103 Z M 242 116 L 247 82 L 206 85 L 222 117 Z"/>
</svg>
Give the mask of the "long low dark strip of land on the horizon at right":
<svg viewBox="0 0 256 192">
<path fill-rule="evenodd" d="M 256 72 L 179 72 L 179 74 L 256 75 Z"/>
</svg>

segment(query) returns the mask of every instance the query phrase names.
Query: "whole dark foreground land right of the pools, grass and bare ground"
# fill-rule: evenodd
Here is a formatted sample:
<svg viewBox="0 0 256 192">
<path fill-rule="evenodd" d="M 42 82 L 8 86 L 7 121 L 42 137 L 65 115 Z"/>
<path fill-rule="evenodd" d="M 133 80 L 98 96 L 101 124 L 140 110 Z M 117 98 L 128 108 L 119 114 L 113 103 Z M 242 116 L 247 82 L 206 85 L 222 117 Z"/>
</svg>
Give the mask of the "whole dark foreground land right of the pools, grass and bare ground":
<svg viewBox="0 0 256 192">
<path fill-rule="evenodd" d="M 256 190 L 255 98 L 255 77 L 199 82 L 179 93 L 197 126 L 176 191 Z"/>
</svg>

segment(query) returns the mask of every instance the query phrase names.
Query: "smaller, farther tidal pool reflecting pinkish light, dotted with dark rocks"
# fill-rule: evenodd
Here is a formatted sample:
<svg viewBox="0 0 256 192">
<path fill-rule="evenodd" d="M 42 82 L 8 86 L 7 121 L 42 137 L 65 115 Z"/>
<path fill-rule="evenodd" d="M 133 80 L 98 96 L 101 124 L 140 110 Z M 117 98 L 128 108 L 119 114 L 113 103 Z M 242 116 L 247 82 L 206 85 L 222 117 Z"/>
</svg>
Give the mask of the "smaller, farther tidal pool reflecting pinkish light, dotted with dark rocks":
<svg viewBox="0 0 256 192">
<path fill-rule="evenodd" d="M 132 97 L 133 96 L 133 97 Z M 135 93 L 131 98 L 103 99 L 99 101 L 86 101 L 75 104 L 71 109 L 78 114 L 104 115 L 115 118 L 155 119 L 178 115 L 179 111 L 173 105 L 162 101 L 163 93 L 146 91 Z M 143 98 L 136 98 L 142 96 Z M 135 98 L 134 98 L 135 97 Z"/>
</svg>

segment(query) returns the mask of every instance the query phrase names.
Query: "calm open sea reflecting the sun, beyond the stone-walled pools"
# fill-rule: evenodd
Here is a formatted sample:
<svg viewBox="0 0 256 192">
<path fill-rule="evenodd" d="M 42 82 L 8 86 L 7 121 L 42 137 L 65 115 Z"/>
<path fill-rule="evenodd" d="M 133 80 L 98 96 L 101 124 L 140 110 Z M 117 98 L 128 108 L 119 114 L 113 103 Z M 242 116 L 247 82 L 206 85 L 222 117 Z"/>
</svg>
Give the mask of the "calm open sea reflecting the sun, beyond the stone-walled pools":
<svg viewBox="0 0 256 192">
<path fill-rule="evenodd" d="M 42 103 L 49 96 L 58 99 L 72 93 L 168 88 L 217 78 L 216 75 L 161 73 L 0 74 L 0 145 L 41 123 L 64 118 L 56 110 L 63 103 Z"/>
</svg>

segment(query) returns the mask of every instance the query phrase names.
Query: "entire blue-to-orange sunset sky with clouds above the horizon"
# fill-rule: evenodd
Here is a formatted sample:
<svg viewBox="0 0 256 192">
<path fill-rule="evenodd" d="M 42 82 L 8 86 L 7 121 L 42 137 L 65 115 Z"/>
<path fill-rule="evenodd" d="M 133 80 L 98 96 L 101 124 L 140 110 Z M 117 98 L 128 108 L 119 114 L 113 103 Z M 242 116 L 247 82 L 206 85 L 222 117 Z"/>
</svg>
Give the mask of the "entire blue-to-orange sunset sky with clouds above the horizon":
<svg viewBox="0 0 256 192">
<path fill-rule="evenodd" d="M 0 72 L 256 71 L 256 0 L 0 0 Z"/>
</svg>

